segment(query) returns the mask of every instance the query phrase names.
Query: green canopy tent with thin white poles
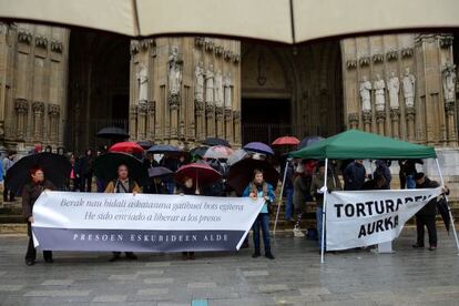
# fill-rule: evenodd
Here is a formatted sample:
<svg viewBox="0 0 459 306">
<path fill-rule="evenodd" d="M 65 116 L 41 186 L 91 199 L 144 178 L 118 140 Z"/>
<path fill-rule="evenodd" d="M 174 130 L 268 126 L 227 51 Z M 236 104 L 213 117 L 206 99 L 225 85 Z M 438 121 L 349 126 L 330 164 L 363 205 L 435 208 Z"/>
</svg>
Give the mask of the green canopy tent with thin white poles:
<svg viewBox="0 0 459 306">
<path fill-rule="evenodd" d="M 325 160 L 325 186 L 328 174 L 328 160 L 409 160 L 409 159 L 435 159 L 437 169 L 441 180 L 441 186 L 445 185 L 440 165 L 434 147 L 414 144 L 391 137 L 380 136 L 373 133 L 349 130 L 320 142 L 314 143 L 305 149 L 290 152 L 292 157 Z M 322 228 L 322 254 L 320 262 L 324 262 L 324 244 L 325 244 L 325 214 L 327 192 L 324 193 L 323 203 L 323 228 Z M 459 249 L 458 236 L 451 210 L 449 216 L 451 218 L 452 230 L 455 233 L 456 245 Z"/>
</svg>

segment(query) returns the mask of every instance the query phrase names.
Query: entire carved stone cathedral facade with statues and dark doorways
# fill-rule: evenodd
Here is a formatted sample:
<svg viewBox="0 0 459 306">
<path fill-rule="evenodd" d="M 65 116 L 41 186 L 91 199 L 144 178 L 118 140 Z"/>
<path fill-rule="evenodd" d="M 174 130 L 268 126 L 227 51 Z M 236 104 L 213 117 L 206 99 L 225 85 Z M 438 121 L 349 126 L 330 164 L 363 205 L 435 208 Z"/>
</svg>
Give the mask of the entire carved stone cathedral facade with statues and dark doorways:
<svg viewBox="0 0 459 306">
<path fill-rule="evenodd" d="M 255 128 L 256 139 L 280 126 L 297 137 L 360 129 L 457 159 L 455 38 L 283 47 L 1 24 L 0 151 L 39 143 L 82 152 L 106 144 L 95 133 L 110 125 L 132 141 L 194 146 L 216 136 L 239 146 Z"/>
</svg>

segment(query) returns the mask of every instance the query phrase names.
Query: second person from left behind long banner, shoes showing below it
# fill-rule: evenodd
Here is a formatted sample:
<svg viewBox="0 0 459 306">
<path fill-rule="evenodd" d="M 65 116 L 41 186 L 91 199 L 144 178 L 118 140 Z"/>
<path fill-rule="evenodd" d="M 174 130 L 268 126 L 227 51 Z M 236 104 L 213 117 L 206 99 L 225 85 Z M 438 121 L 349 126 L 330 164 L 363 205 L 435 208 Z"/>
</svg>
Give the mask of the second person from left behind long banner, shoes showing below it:
<svg viewBox="0 0 459 306">
<path fill-rule="evenodd" d="M 118 178 L 106 185 L 105 193 L 132 193 L 133 195 L 141 192 L 137 183 L 129 177 L 129 169 L 125 164 L 118 166 Z M 125 252 L 128 259 L 137 259 L 133 252 Z M 116 262 L 121 258 L 121 252 L 113 252 L 110 262 Z"/>
</svg>

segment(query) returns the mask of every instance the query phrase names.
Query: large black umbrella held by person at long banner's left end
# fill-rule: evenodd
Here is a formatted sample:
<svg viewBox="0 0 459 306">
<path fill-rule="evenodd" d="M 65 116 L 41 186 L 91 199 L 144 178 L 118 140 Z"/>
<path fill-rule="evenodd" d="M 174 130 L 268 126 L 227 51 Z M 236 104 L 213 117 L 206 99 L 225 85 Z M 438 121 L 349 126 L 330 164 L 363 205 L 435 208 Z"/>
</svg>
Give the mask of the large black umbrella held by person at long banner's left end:
<svg viewBox="0 0 459 306">
<path fill-rule="evenodd" d="M 18 194 L 22 187 L 30 182 L 29 171 L 32 167 L 41 167 L 44 177 L 55 185 L 58 190 L 65 188 L 65 182 L 70 178 L 72 165 L 63 155 L 43 152 L 20 159 L 8 170 L 7 188 Z"/>
</svg>

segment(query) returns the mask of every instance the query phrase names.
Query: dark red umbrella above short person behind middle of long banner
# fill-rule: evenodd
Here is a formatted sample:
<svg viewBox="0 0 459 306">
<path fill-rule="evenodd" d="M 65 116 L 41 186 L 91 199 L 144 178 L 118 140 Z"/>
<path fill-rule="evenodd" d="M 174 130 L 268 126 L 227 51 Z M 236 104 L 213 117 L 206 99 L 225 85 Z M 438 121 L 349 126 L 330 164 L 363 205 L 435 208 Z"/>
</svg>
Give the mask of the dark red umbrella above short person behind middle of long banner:
<svg viewBox="0 0 459 306">
<path fill-rule="evenodd" d="M 193 178 L 193 183 L 197 188 L 220 180 L 222 174 L 207 164 L 193 163 L 181 166 L 175 172 L 175 181 L 178 183 L 183 184 L 186 177 Z"/>
</svg>

